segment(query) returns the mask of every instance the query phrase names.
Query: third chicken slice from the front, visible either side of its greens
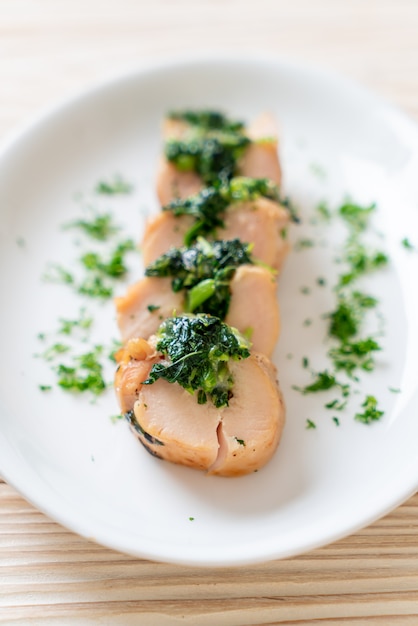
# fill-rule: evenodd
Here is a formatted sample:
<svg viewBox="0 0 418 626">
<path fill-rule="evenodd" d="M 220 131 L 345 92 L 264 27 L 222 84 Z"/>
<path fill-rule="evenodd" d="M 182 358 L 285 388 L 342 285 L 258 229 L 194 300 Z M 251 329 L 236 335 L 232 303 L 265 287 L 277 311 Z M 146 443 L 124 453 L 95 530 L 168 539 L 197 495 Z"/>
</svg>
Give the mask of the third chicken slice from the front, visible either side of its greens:
<svg viewBox="0 0 418 626">
<path fill-rule="evenodd" d="M 249 202 L 236 202 L 225 211 L 224 228 L 218 228 L 208 239 L 240 239 L 252 243 L 252 255 L 262 263 L 279 270 L 289 252 L 286 229 L 290 222 L 289 211 L 267 198 Z M 184 245 L 186 232 L 194 219 L 189 215 L 175 217 L 162 211 L 148 221 L 143 241 L 142 255 L 147 266 L 170 247 Z"/>
</svg>

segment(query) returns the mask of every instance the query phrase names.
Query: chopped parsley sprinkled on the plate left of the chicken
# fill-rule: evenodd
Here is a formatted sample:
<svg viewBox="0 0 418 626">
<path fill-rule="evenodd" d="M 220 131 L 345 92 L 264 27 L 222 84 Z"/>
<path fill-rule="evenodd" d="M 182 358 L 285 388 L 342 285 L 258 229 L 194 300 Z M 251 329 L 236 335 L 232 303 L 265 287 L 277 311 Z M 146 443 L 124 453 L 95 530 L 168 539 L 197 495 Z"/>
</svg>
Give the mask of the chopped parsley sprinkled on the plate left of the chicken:
<svg viewBox="0 0 418 626">
<path fill-rule="evenodd" d="M 131 186 L 118 177 L 111 183 L 99 183 L 96 192 L 107 195 L 128 193 Z M 78 201 L 80 198 L 76 198 Z M 110 212 L 94 213 L 92 216 L 76 219 L 64 228 L 76 228 L 82 235 L 77 245 L 82 245 L 84 252 L 71 265 L 71 271 L 59 264 L 51 264 L 45 278 L 66 284 L 75 293 L 109 298 L 118 280 L 127 272 L 126 255 L 135 248 L 131 239 L 121 239 L 121 228 Z M 85 243 L 94 243 L 92 250 L 86 249 Z M 78 317 L 59 317 L 55 333 L 39 333 L 43 342 L 43 353 L 38 355 L 50 363 L 56 376 L 56 384 L 69 392 L 88 392 L 94 396 L 107 389 L 104 378 L 108 360 L 115 361 L 115 353 L 121 347 L 120 342 L 110 341 L 109 345 L 96 345 L 91 341 L 93 316 L 82 307 Z M 65 343 L 62 339 L 65 337 Z M 50 345 L 48 345 L 50 344 Z M 88 348 L 86 349 L 86 344 Z M 84 346 L 84 347 L 83 347 Z M 80 354 L 80 350 L 84 352 Z M 39 385 L 40 390 L 48 390 L 51 385 Z"/>
</svg>

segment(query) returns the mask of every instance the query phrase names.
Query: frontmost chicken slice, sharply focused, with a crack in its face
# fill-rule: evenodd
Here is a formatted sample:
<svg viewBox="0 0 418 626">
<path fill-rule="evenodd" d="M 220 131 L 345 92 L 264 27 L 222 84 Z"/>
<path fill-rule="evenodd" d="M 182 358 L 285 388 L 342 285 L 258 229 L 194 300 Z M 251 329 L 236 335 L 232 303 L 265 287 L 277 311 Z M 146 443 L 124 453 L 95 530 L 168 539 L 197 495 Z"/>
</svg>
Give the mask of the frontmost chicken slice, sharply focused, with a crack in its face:
<svg viewBox="0 0 418 626">
<path fill-rule="evenodd" d="M 264 466 L 274 454 L 285 409 L 267 357 L 252 354 L 231 363 L 228 407 L 198 404 L 176 383 L 142 385 L 131 427 L 151 454 L 219 476 L 239 476 Z"/>
</svg>

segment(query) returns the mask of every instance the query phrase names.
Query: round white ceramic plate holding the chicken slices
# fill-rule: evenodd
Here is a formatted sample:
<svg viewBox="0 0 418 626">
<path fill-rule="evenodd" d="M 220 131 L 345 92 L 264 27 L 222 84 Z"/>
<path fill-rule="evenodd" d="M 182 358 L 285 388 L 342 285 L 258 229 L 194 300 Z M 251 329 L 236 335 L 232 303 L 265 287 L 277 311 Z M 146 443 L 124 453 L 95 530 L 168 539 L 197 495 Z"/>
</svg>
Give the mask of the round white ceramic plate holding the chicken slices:
<svg viewBox="0 0 418 626">
<path fill-rule="evenodd" d="M 74 193 L 123 174 L 135 193 L 111 206 L 139 237 L 142 209 L 156 208 L 160 120 L 179 107 L 220 107 L 246 120 L 275 113 L 286 192 L 303 217 L 292 236 L 318 244 L 291 254 L 280 283 L 276 362 L 288 407 L 280 448 L 262 471 L 237 479 L 146 454 L 127 424 L 109 419 L 117 412 L 111 392 L 91 404 L 38 388 L 50 371 L 34 357 L 37 334 L 80 307 L 67 287 L 41 279 L 48 262 L 74 258 L 74 239 L 61 229 L 79 215 Z M 409 237 L 418 244 L 417 171 L 418 132 L 403 114 L 336 76 L 272 59 L 168 63 L 95 87 L 36 119 L 0 156 L 1 474 L 81 535 L 140 557 L 196 565 L 295 555 L 401 503 L 418 487 L 418 255 L 400 243 Z M 324 409 L 332 394 L 302 396 L 292 386 L 310 382 L 303 357 L 324 365 L 321 315 L 333 306 L 332 289 L 315 284 L 319 276 L 329 285 L 335 278 L 335 233 L 310 224 L 310 216 L 319 200 L 337 203 L 347 193 L 378 203 L 379 245 L 391 265 L 364 285 L 381 300 L 385 349 L 336 427 Z M 131 279 L 140 273 L 134 262 Z M 116 337 L 112 306 L 96 317 L 98 336 Z M 365 394 L 385 410 L 372 426 L 353 419 Z M 317 428 L 307 430 L 307 419 Z"/>
</svg>

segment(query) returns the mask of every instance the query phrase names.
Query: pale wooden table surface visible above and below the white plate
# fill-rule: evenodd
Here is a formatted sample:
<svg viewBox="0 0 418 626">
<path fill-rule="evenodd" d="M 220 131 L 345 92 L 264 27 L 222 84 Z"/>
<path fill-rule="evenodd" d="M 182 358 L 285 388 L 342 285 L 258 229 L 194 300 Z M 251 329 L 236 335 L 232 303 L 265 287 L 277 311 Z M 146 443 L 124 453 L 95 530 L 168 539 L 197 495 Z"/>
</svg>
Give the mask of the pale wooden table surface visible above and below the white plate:
<svg viewBox="0 0 418 626">
<path fill-rule="evenodd" d="M 2 0 L 0 138 L 42 106 L 156 57 L 276 53 L 418 119 L 414 0 Z M 0 480 L 0 623 L 418 624 L 418 495 L 355 535 L 242 568 L 164 565 L 63 529 Z"/>
</svg>

